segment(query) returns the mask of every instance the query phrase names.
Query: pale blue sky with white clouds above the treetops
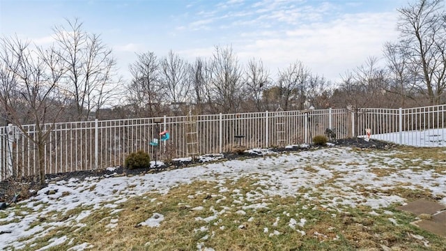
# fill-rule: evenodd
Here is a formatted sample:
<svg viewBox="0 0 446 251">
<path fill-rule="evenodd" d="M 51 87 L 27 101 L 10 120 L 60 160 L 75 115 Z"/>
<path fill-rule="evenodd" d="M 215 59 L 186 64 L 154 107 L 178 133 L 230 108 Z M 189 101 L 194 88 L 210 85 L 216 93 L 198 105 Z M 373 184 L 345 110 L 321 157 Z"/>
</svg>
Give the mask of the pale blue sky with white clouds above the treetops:
<svg viewBox="0 0 446 251">
<path fill-rule="evenodd" d="M 52 28 L 78 18 L 112 47 L 119 73 L 137 53 L 193 62 L 231 46 L 240 65 L 263 61 L 271 77 L 301 61 L 336 81 L 398 38 L 397 8 L 415 0 L 0 0 L 1 36 L 52 43 Z M 383 63 L 383 60 L 381 61 Z"/>
</svg>

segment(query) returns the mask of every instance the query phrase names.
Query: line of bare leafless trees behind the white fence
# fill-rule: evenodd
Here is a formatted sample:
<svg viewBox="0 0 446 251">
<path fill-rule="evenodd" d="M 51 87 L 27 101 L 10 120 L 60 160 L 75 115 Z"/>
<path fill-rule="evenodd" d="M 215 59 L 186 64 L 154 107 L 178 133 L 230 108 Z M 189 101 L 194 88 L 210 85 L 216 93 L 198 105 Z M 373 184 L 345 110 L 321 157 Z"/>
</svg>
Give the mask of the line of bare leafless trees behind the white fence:
<svg viewBox="0 0 446 251">
<path fill-rule="evenodd" d="M 0 122 L 444 104 L 444 2 L 416 0 L 398 12 L 399 39 L 383 45 L 383 59 L 370 56 L 337 82 L 298 59 L 272 76 L 261 59 L 241 64 L 231 46 L 215 46 L 212 56 L 193 62 L 173 51 L 137 54 L 128 68 L 131 78 L 123 79 L 112 49 L 79 20 L 55 26 L 49 47 L 3 37 Z"/>
</svg>

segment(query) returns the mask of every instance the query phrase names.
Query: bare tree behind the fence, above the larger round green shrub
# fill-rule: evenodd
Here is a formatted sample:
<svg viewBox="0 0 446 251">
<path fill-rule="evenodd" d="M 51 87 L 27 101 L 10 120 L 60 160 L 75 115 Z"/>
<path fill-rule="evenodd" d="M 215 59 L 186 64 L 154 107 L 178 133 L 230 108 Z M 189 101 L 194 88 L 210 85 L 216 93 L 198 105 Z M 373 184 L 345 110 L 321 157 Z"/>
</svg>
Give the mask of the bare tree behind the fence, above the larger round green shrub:
<svg viewBox="0 0 446 251">
<path fill-rule="evenodd" d="M 153 52 L 137 54 L 129 66 L 132 80 L 127 86 L 127 99 L 135 116 L 159 115 L 161 102 L 160 63 Z"/>
</svg>

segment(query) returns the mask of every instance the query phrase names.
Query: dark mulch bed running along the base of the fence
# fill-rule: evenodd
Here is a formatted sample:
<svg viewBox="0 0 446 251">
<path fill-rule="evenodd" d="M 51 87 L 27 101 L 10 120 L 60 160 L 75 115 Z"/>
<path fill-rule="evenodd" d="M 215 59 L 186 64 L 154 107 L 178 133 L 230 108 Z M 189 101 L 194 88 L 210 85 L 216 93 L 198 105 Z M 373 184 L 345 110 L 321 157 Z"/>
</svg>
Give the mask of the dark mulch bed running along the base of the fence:
<svg viewBox="0 0 446 251">
<path fill-rule="evenodd" d="M 370 139 L 369 142 L 366 142 L 364 139 L 335 139 L 330 141 L 330 143 L 335 144 L 336 146 L 351 146 L 358 149 L 392 149 L 396 144 L 392 144 L 389 142 L 382 142 L 375 139 Z M 292 148 L 275 148 L 270 149 L 270 151 L 283 153 L 283 152 L 292 152 L 292 151 L 308 151 L 309 149 L 320 149 L 328 146 L 312 146 L 301 148 L 301 147 L 292 147 Z M 259 158 L 261 155 L 256 153 L 224 153 L 221 160 L 235 160 L 235 159 L 247 159 L 247 158 Z M 143 175 L 149 173 L 156 172 L 164 172 L 171 169 L 178 169 L 184 167 L 190 167 L 192 165 L 199 165 L 202 162 L 199 160 L 196 161 L 172 161 L 169 163 L 164 163 L 164 165 L 151 168 L 151 169 L 125 169 L 124 167 L 116 167 L 113 170 L 100 169 L 100 170 L 89 170 L 89 171 L 77 171 L 77 172 L 68 172 L 68 173 L 60 173 L 60 174 L 47 174 L 47 181 L 60 181 L 65 180 L 68 181 L 70 178 L 77 178 L 79 180 L 84 180 L 85 178 L 91 177 L 110 177 L 110 176 L 134 176 L 134 175 Z M 13 181 L 11 179 L 6 181 L 0 181 L 0 203 L 8 202 L 10 203 L 11 199 L 13 199 L 14 192 L 17 190 L 23 190 L 23 188 L 29 188 L 32 190 L 40 190 L 43 188 L 38 183 L 32 181 L 32 178 L 22 178 L 20 181 Z M 44 185 L 45 186 L 45 185 Z M 33 195 L 31 192 L 29 195 Z M 17 198 L 18 201 L 22 199 L 26 199 L 27 196 Z"/>
</svg>

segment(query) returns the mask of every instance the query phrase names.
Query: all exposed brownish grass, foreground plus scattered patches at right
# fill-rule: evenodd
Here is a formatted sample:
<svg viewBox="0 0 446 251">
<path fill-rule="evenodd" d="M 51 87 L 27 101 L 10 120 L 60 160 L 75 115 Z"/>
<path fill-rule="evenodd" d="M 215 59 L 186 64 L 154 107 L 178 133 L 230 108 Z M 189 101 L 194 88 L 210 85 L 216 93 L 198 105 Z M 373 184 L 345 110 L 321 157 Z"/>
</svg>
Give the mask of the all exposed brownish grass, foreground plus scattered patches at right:
<svg viewBox="0 0 446 251">
<path fill-rule="evenodd" d="M 417 149 L 408 151 L 414 155 Z M 396 155 L 408 157 L 406 153 Z M 422 158 L 440 161 L 439 156 L 431 156 Z M 406 157 L 401 163 L 402 169 L 413 163 Z M 325 164 L 318 167 L 329 169 Z M 310 173 L 318 172 L 309 165 L 301 168 Z M 395 170 L 398 172 L 394 167 L 371 167 L 371 172 L 378 177 L 390 176 Z M 49 234 L 30 241 L 24 250 L 42 248 L 54 236 L 67 236 L 72 243 L 67 241 L 53 250 L 68 250 L 82 243 L 93 245 L 90 250 L 198 250 L 199 246 L 214 250 L 443 250 L 446 246 L 445 238 L 410 225 L 416 220 L 415 216 L 395 210 L 399 205 L 372 209 L 360 206 L 357 201 L 355 206 L 328 207 L 323 202 L 327 198 L 323 189 L 335 188 L 334 182 L 343 174 L 332 172 L 332 177 L 322 185 L 302 187 L 284 196 L 266 195 L 263 189 L 268 188 L 256 185 L 259 179 L 240 176 L 219 182 L 194 181 L 178 185 L 165 195 L 148 192 L 130 197 L 113 209 L 102 207 L 91 211 L 91 207 L 80 207 L 66 213 L 54 211 L 34 222 L 33 227 L 42 222 L 69 220 L 83 211 L 91 213 L 79 222 L 84 227 L 55 227 Z M 383 194 L 399 195 L 407 201 L 433 199 L 428 190 L 413 188 L 410 183 L 385 189 L 358 183 L 355 192 L 366 198 Z M 339 197 L 342 199 L 341 194 Z M 110 201 L 104 202 L 108 203 Z M 115 209 L 121 211 L 112 213 Z M 24 209 L 17 208 L 19 211 Z M 154 213 L 164 216 L 160 227 L 139 225 Z M 0 212 L 0 218 L 6 217 Z M 290 227 L 291 221 L 300 222 L 301 219 L 306 220 L 305 225 Z M 423 239 L 413 235 L 423 236 Z"/>
</svg>

